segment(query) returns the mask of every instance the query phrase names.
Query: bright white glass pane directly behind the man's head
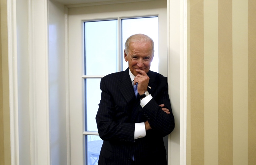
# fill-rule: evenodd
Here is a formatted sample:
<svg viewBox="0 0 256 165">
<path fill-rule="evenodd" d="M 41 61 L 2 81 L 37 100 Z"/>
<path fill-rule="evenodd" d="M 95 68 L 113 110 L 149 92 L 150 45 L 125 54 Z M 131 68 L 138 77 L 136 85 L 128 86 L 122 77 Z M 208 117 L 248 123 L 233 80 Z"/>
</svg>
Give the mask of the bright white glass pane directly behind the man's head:
<svg viewBox="0 0 256 165">
<path fill-rule="evenodd" d="M 122 19 L 122 52 L 125 49 L 124 44 L 127 38 L 138 33 L 153 39 L 155 53 L 150 70 L 158 72 L 158 17 Z M 126 70 L 128 62 L 124 60 L 124 54 L 122 54 L 122 62 L 123 70 Z"/>
</svg>

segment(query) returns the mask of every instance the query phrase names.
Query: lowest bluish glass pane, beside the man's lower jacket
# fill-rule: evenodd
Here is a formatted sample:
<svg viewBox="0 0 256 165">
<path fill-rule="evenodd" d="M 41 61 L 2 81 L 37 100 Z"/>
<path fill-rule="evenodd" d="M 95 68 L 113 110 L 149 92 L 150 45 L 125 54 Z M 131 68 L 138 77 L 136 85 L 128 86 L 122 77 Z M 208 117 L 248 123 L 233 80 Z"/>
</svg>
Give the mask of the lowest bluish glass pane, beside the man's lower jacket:
<svg viewBox="0 0 256 165">
<path fill-rule="evenodd" d="M 97 165 L 103 141 L 97 135 L 87 136 L 87 164 Z"/>
</svg>

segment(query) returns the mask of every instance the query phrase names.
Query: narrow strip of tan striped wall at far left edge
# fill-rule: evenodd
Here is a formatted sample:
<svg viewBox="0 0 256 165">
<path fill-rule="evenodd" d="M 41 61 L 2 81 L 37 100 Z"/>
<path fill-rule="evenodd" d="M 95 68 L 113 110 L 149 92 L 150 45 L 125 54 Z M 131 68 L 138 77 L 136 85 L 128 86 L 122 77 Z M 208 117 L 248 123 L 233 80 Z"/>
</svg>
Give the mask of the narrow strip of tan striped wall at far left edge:
<svg viewBox="0 0 256 165">
<path fill-rule="evenodd" d="M 7 1 L 0 0 L 0 164 L 11 164 Z"/>
</svg>

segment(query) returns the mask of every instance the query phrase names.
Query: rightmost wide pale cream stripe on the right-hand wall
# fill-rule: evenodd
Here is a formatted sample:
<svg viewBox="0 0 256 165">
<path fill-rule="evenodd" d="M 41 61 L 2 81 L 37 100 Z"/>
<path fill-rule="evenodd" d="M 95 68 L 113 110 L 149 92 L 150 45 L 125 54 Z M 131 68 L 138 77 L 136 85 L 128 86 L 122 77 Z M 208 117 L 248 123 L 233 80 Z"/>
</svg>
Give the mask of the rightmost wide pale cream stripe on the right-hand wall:
<svg viewBox="0 0 256 165">
<path fill-rule="evenodd" d="M 248 164 L 248 0 L 233 0 L 233 164 Z"/>
</svg>

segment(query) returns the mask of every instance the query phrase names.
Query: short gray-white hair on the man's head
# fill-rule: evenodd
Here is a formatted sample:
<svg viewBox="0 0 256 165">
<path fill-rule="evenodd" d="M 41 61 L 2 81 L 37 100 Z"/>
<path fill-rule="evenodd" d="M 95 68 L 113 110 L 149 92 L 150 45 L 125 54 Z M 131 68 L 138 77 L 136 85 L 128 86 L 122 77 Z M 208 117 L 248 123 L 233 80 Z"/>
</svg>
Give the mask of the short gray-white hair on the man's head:
<svg viewBox="0 0 256 165">
<path fill-rule="evenodd" d="M 131 42 L 151 42 L 152 43 L 152 55 L 154 55 L 154 41 L 147 35 L 144 34 L 135 34 L 131 35 L 125 42 L 125 53 L 128 55 L 129 53 L 129 45 Z"/>
</svg>

